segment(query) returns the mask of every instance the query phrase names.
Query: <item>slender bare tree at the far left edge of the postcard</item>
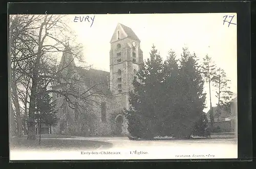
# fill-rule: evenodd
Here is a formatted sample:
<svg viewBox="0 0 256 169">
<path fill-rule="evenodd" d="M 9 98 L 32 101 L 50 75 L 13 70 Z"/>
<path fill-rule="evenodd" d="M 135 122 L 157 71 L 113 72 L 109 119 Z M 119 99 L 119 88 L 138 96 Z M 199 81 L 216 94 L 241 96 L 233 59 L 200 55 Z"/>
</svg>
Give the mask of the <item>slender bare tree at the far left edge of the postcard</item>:
<svg viewBox="0 0 256 169">
<path fill-rule="evenodd" d="M 17 133 L 22 135 L 22 118 L 20 113 L 19 99 L 18 99 L 18 83 L 19 79 L 25 74 L 20 73 L 21 67 L 25 68 L 27 64 L 23 62 L 24 58 L 28 59 L 31 51 L 33 51 L 33 43 L 27 34 L 27 27 L 31 23 L 31 20 L 26 16 L 10 16 L 10 87 L 11 97 L 15 108 L 16 121 L 17 121 Z M 18 62 L 21 61 L 21 62 Z M 24 64 L 25 63 L 25 64 Z M 28 63 L 28 62 L 27 62 Z"/>
</svg>

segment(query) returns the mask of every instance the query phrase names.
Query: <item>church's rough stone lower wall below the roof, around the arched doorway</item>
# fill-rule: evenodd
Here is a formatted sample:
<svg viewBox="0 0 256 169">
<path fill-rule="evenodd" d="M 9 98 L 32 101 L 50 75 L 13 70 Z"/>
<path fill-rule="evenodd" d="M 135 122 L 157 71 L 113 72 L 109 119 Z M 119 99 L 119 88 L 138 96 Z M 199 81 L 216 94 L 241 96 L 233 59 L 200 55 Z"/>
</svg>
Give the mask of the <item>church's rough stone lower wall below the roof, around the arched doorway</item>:
<svg viewBox="0 0 256 169">
<path fill-rule="evenodd" d="M 127 95 L 128 96 L 128 95 Z M 93 136 L 93 135 L 113 135 L 115 134 L 115 118 L 122 114 L 123 105 L 127 100 L 126 95 L 112 96 L 95 96 L 95 102 L 93 108 L 90 111 L 93 114 L 92 120 L 83 119 L 80 115 L 78 124 L 75 123 L 75 111 L 70 108 L 67 104 L 62 105 L 63 98 L 57 99 L 57 107 L 59 122 L 53 127 L 53 134 L 68 134 L 68 135 L 82 135 L 82 136 Z M 101 105 L 96 104 L 105 102 L 106 103 L 106 121 L 101 120 Z M 82 110 L 80 110 L 82 111 Z M 122 135 L 129 134 L 127 131 L 127 120 L 123 116 L 122 123 Z M 62 127 L 61 127 L 62 126 Z M 78 127 L 77 127 L 78 126 Z M 78 130 L 76 130 L 78 129 Z"/>
</svg>

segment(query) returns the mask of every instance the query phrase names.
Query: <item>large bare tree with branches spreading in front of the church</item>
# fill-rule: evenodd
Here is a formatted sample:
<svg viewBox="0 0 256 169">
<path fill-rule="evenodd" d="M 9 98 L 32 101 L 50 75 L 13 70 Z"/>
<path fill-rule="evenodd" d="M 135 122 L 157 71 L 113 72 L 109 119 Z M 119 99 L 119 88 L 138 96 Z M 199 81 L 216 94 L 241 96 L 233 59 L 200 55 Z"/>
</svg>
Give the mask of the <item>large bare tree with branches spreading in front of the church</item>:
<svg viewBox="0 0 256 169">
<path fill-rule="evenodd" d="M 87 83 L 88 79 L 84 78 L 86 75 L 80 74 L 82 68 L 74 64 L 74 60 L 81 61 L 82 47 L 81 44 L 75 42 L 67 45 L 68 40 L 75 41 L 75 36 L 66 25 L 64 15 L 22 15 L 21 17 L 25 20 L 26 26 L 26 29 L 23 29 L 23 31 L 26 30 L 24 36 L 26 35 L 27 41 L 34 45 L 28 46 L 25 41 L 22 41 L 21 44 L 25 45 L 24 51 L 29 51 L 25 53 L 19 46 L 13 45 L 13 40 L 11 40 L 13 50 L 22 51 L 20 55 L 11 55 L 11 63 L 18 65 L 13 67 L 12 71 L 23 76 L 23 83 L 13 84 L 13 88 L 14 86 L 24 88 L 24 82 L 29 83 L 30 87 L 20 90 L 19 100 L 22 100 L 25 105 L 25 113 L 28 109 L 28 139 L 35 139 L 34 113 L 38 97 L 49 93 L 60 94 L 64 98 L 63 104 L 76 109 L 77 113 L 87 115 L 91 105 L 98 102 L 93 98 L 95 96 L 101 98 L 104 94 L 99 86 L 105 84 L 90 83 L 91 81 Z M 15 30 L 18 25 L 13 25 L 13 27 Z M 11 35 L 14 36 L 14 32 L 10 31 L 10 37 Z M 57 66 L 56 58 L 63 53 L 68 54 L 70 59 L 66 60 L 65 64 Z M 80 74 L 79 79 L 74 78 L 77 74 Z M 12 80 L 12 82 L 15 81 L 15 79 Z M 41 92 L 42 86 L 39 84 L 44 84 L 43 87 L 46 89 L 44 92 Z M 56 84 L 62 86 L 62 91 L 54 89 Z"/>
</svg>

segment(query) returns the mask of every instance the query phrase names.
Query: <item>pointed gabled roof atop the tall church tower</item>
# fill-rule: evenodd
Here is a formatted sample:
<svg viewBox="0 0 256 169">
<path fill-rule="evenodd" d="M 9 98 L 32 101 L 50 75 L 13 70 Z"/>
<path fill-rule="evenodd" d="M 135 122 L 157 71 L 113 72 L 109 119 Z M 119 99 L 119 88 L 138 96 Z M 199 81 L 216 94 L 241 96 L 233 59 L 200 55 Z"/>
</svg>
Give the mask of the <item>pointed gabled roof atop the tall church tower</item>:
<svg viewBox="0 0 256 169">
<path fill-rule="evenodd" d="M 120 39 L 123 39 L 123 38 L 131 38 L 133 40 L 138 40 L 140 41 L 140 39 L 138 38 L 138 36 L 133 32 L 133 30 L 129 27 L 126 27 L 124 25 L 122 25 L 121 23 L 118 23 L 117 24 L 117 27 L 115 29 L 115 32 L 111 38 L 111 41 L 110 43 L 114 42 L 114 41 L 117 41 L 117 31 L 121 31 L 122 32 L 122 37 Z"/>
</svg>

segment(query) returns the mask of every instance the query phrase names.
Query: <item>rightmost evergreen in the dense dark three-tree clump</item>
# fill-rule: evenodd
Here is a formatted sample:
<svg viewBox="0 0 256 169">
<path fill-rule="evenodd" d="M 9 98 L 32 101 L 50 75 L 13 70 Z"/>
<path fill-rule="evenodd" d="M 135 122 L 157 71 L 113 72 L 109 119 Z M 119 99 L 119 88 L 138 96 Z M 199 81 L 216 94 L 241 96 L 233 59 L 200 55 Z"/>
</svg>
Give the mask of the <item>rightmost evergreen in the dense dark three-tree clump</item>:
<svg viewBox="0 0 256 169">
<path fill-rule="evenodd" d="M 175 137 L 189 137 L 205 107 L 204 81 L 196 54 L 191 55 L 187 48 L 183 48 L 180 63 L 181 94 L 179 102 L 176 103 L 178 109 L 174 114 L 172 131 Z"/>
</svg>

